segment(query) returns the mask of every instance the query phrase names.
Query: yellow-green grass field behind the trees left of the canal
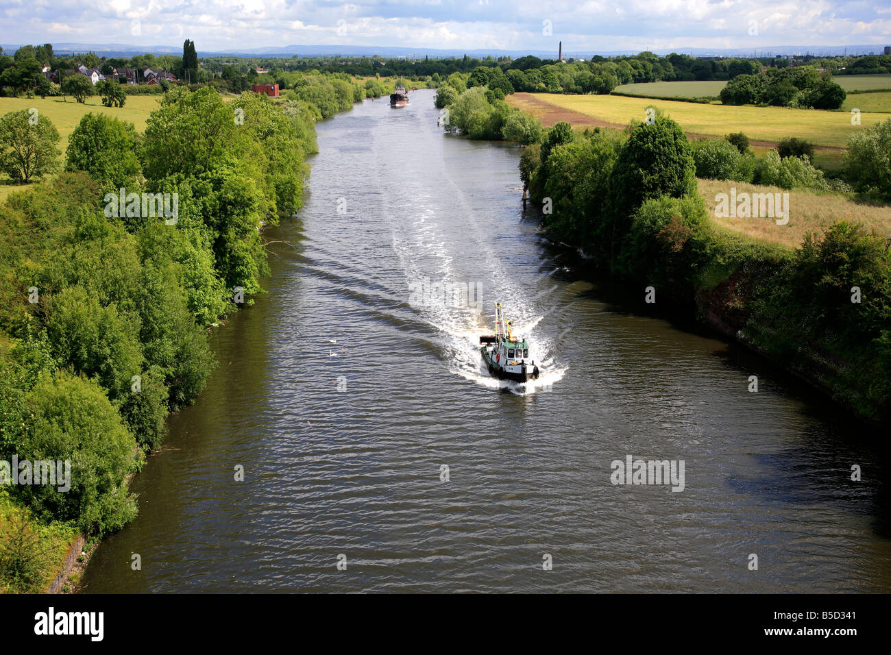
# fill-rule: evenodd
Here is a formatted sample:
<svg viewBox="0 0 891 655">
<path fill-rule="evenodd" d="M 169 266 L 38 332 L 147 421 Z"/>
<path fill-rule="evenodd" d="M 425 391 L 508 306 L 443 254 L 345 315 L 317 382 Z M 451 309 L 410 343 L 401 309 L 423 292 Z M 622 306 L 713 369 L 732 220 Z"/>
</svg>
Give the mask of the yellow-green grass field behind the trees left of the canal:
<svg viewBox="0 0 891 655">
<path fill-rule="evenodd" d="M 128 95 L 127 103 L 123 107 L 103 107 L 102 100 L 98 95 L 87 98 L 86 103 L 75 102 L 70 97 L 68 102 L 61 98 L 32 98 L 30 100 L 28 98 L 0 98 L 0 115 L 9 111 L 36 109 L 39 116 L 45 116 L 53 121 L 53 125 L 59 130 L 61 137 L 58 143 L 59 150 L 61 150 L 60 160 L 64 160 L 68 137 L 85 114 L 90 111 L 102 112 L 131 122 L 135 125 L 137 132 L 142 132 L 145 129 L 145 121 L 149 118 L 151 111 L 158 108 L 160 100 L 160 95 Z M 11 192 L 27 188 L 7 183 L 8 178 L 4 178 L 0 182 L 0 202 L 4 201 Z"/>
</svg>

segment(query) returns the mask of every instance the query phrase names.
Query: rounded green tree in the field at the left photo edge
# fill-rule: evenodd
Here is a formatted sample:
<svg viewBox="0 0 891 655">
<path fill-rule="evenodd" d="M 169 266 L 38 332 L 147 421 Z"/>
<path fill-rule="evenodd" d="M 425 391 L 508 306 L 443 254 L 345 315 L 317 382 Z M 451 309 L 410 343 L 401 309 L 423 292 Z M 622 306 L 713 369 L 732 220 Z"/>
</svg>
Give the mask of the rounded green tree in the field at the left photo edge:
<svg viewBox="0 0 891 655">
<path fill-rule="evenodd" d="M 59 132 L 37 111 L 11 111 L 0 117 L 0 169 L 15 182 L 27 184 L 57 170 L 56 143 Z"/>
</svg>

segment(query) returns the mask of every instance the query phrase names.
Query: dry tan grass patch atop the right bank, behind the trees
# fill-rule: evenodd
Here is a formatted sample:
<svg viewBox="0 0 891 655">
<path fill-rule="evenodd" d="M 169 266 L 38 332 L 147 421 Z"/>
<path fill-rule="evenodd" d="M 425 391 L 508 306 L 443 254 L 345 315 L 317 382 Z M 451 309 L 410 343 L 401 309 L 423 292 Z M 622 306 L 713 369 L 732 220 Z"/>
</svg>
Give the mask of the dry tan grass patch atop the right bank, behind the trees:
<svg viewBox="0 0 891 655">
<path fill-rule="evenodd" d="M 728 180 L 698 180 L 699 193 L 706 201 L 708 214 L 715 225 L 745 234 L 762 242 L 778 243 L 789 248 L 797 248 L 811 233 L 822 234 L 824 230 L 847 220 L 862 223 L 867 230 L 882 236 L 891 236 L 891 207 L 876 207 L 854 202 L 843 193 L 818 192 L 807 189 L 784 191 L 776 186 L 744 184 Z M 789 223 L 776 225 L 775 218 L 716 217 L 715 196 L 718 193 L 730 194 L 731 187 L 748 193 L 789 193 Z"/>
</svg>

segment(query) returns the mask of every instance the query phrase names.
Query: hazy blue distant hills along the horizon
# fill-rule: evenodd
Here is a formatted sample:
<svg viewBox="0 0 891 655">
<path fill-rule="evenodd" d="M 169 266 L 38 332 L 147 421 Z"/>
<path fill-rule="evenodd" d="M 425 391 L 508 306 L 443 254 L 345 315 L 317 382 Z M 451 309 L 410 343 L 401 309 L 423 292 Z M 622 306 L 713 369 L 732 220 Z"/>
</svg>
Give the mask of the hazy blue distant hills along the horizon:
<svg viewBox="0 0 891 655">
<path fill-rule="evenodd" d="M 14 53 L 19 45 L 3 46 L 4 53 Z M 669 48 L 657 49 L 653 52 L 660 55 L 669 53 L 690 54 L 694 57 L 764 57 L 772 55 L 801 55 L 815 54 L 817 56 L 834 56 L 837 54 L 880 54 L 884 50 L 882 45 L 776 45 L 763 48 Z M 127 44 L 84 44 L 84 43 L 53 43 L 53 52 L 57 54 L 94 52 L 105 57 L 132 57 L 135 54 L 175 54 L 183 53 L 182 45 L 127 45 Z M 564 58 L 588 59 L 595 54 L 603 57 L 611 57 L 620 54 L 636 54 L 640 50 L 574 50 L 570 43 L 563 44 Z M 461 48 L 413 48 L 390 45 L 266 45 L 259 48 L 242 50 L 224 49 L 218 51 L 199 50 L 200 57 L 314 57 L 314 56 L 366 56 L 380 55 L 382 57 L 408 57 L 420 58 L 428 56 L 431 59 L 443 59 L 446 57 L 462 57 L 463 55 L 484 59 L 488 55 L 493 57 L 510 56 L 514 59 L 527 54 L 533 54 L 543 59 L 556 59 L 557 50 L 462 50 Z"/>
</svg>

